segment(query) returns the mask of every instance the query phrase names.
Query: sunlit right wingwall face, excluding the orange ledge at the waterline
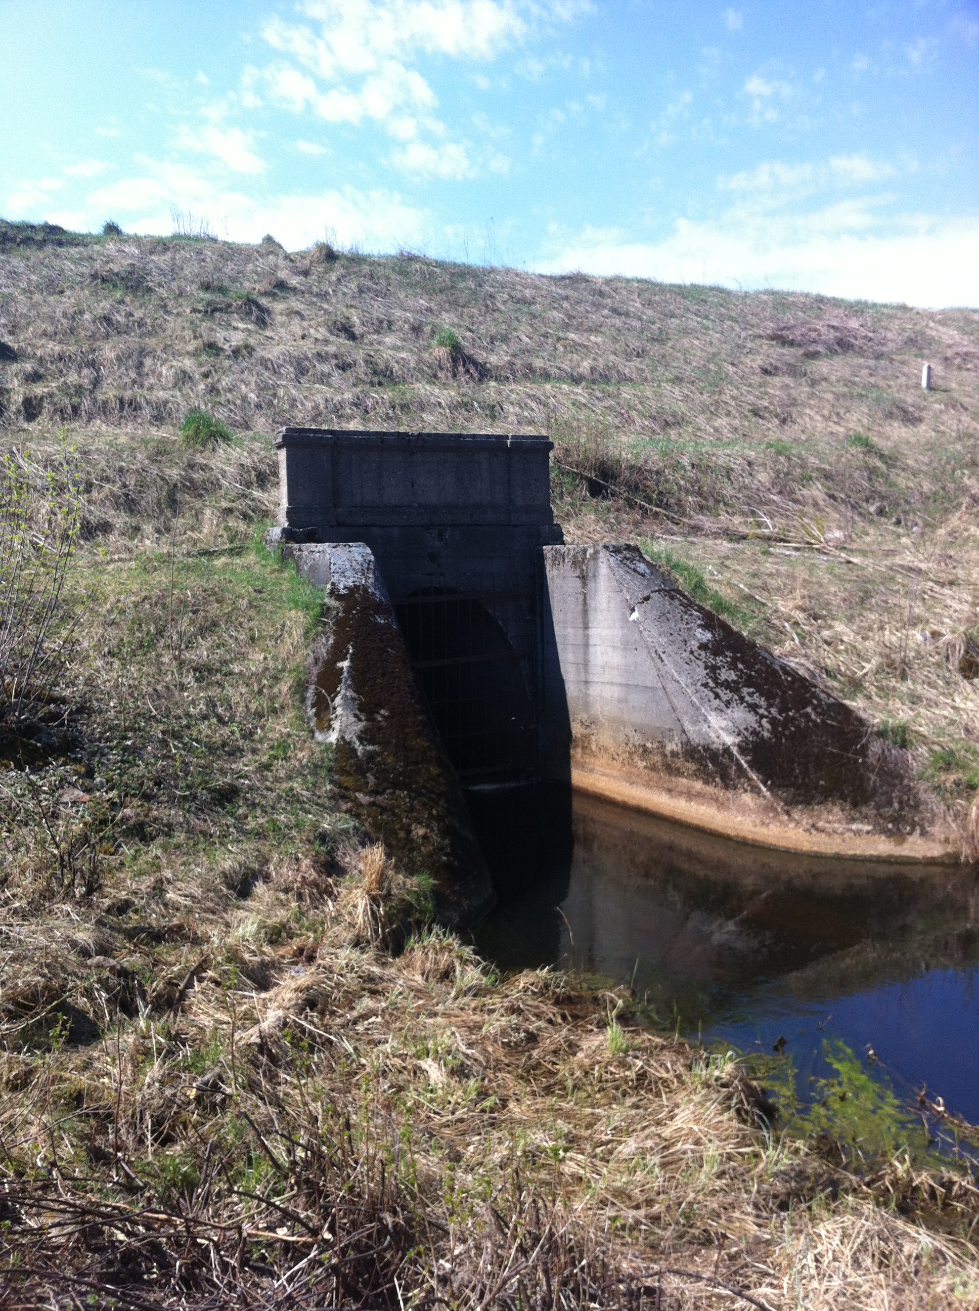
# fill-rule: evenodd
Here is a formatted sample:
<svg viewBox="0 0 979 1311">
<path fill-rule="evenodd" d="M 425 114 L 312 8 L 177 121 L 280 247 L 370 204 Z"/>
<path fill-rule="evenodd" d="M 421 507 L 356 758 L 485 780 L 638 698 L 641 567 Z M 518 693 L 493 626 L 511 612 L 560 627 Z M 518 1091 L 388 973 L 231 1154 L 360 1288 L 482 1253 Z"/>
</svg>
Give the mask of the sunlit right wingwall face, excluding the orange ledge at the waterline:
<svg viewBox="0 0 979 1311">
<path fill-rule="evenodd" d="M 849 707 L 691 600 L 637 547 L 544 548 L 544 767 L 687 776 L 898 814 L 907 781 Z"/>
</svg>

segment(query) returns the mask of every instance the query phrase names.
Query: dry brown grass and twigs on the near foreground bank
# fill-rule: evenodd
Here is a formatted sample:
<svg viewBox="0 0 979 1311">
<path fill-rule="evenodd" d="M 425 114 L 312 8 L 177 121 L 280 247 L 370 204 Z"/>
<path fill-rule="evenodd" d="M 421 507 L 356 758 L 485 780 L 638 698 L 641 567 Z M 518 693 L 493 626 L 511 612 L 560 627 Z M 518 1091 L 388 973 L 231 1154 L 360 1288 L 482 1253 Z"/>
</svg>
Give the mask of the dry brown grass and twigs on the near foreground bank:
<svg viewBox="0 0 979 1311">
<path fill-rule="evenodd" d="M 349 864 L 362 895 L 389 878 L 376 848 Z M 105 1019 L 39 1058 L 5 1029 L 0 1306 L 979 1297 L 965 1181 L 937 1194 L 900 1160 L 847 1176 L 756 1127 L 730 1061 L 623 1023 L 624 999 L 501 983 L 442 933 L 358 945 L 343 889 L 269 943 L 290 915 L 274 888 L 169 949 L 104 931 L 115 974 L 64 920 L 18 931 L 38 965 L 17 1023 L 84 988 Z M 149 996 L 148 957 L 170 981 Z"/>
</svg>

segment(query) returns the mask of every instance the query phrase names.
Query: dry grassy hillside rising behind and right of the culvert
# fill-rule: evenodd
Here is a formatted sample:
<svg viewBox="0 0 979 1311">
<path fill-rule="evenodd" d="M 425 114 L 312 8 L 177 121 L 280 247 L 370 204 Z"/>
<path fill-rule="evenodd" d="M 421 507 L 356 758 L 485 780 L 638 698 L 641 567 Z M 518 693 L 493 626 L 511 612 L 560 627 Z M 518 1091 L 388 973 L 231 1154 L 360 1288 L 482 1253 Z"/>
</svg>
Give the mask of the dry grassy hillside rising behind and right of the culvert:
<svg viewBox="0 0 979 1311">
<path fill-rule="evenodd" d="M 111 469 L 96 538 L 153 438 L 176 486 L 194 406 L 263 439 L 233 531 L 269 513 L 282 423 L 548 433 L 569 540 L 661 539 L 700 599 L 910 745 L 965 832 L 978 312 L 0 223 L 0 341 L 7 440 L 66 426 Z"/>
</svg>

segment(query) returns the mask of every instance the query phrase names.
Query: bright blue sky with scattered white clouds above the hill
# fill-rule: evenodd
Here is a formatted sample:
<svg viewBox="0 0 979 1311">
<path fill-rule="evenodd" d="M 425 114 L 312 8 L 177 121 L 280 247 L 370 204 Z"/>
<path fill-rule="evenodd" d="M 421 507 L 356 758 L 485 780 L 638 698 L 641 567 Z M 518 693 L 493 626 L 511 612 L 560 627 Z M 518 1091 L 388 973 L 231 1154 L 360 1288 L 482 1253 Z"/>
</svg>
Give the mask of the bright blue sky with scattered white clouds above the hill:
<svg viewBox="0 0 979 1311">
<path fill-rule="evenodd" d="M 979 3 L 0 0 L 0 214 L 979 305 Z"/>
</svg>

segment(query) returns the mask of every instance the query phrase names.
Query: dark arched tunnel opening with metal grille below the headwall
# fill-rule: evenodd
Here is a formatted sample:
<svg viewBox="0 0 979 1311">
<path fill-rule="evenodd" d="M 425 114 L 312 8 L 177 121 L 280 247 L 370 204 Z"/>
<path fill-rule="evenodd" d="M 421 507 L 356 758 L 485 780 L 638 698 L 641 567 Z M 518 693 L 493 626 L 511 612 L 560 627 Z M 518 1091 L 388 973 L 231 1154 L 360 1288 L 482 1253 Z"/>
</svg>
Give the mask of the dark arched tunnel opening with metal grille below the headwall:
<svg viewBox="0 0 979 1311">
<path fill-rule="evenodd" d="M 405 644 L 456 773 L 467 784 L 536 772 L 529 691 L 533 593 L 423 587 L 394 603 Z M 501 623 L 502 620 L 502 623 Z"/>
</svg>

